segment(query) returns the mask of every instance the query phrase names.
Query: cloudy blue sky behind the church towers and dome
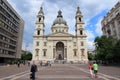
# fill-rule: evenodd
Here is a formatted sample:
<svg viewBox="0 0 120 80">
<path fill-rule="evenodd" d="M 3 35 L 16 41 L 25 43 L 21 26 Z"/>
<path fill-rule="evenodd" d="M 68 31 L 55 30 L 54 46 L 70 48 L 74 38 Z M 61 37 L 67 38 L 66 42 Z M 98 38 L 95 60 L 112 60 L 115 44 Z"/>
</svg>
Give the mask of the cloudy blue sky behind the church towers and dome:
<svg viewBox="0 0 120 80">
<path fill-rule="evenodd" d="M 45 34 L 51 33 L 51 26 L 58 10 L 69 26 L 69 33 L 75 34 L 75 14 L 79 6 L 84 17 L 87 33 L 87 48 L 94 49 L 94 39 L 101 36 L 101 20 L 119 0 L 7 0 L 25 22 L 23 50 L 32 51 L 36 16 L 43 7 Z"/>
</svg>

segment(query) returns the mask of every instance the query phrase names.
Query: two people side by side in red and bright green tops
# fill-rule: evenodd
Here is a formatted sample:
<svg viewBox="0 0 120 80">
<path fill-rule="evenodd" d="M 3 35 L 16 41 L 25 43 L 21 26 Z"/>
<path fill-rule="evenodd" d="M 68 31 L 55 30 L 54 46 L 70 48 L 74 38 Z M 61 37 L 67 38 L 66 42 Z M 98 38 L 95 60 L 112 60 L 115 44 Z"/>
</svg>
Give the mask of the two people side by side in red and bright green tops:
<svg viewBox="0 0 120 80">
<path fill-rule="evenodd" d="M 90 75 L 92 78 L 97 78 L 98 77 L 98 64 L 96 62 L 93 62 L 89 64 L 88 66 L 89 70 L 90 70 Z"/>
</svg>

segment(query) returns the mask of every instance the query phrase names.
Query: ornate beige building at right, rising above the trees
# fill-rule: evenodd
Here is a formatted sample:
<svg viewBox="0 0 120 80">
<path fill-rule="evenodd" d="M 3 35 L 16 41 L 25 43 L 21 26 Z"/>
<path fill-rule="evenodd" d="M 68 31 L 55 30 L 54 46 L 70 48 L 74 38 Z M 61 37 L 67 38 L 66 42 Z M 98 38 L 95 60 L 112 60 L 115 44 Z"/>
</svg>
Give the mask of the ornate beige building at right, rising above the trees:
<svg viewBox="0 0 120 80">
<path fill-rule="evenodd" d="M 103 35 L 120 39 L 120 1 L 104 16 L 101 24 Z"/>
</svg>

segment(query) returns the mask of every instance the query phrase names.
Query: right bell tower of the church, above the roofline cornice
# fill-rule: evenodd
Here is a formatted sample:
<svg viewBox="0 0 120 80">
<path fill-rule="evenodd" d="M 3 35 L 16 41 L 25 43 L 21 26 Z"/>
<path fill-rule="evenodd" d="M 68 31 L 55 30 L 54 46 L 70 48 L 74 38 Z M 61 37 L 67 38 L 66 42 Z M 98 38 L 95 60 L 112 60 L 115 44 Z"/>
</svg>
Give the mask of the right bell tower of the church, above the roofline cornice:
<svg viewBox="0 0 120 80">
<path fill-rule="evenodd" d="M 76 36 L 83 36 L 85 35 L 84 33 L 84 21 L 83 21 L 83 16 L 80 11 L 80 8 L 77 7 L 77 12 L 76 12 Z"/>
</svg>

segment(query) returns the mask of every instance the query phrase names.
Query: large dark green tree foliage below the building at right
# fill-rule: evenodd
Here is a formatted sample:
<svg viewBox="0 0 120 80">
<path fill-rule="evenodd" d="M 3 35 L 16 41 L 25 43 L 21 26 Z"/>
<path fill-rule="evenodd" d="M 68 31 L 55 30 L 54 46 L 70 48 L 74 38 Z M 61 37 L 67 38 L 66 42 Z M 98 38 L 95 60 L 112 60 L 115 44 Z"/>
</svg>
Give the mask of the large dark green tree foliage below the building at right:
<svg viewBox="0 0 120 80">
<path fill-rule="evenodd" d="M 103 60 L 103 61 L 120 61 L 120 40 L 117 41 L 113 37 L 96 37 L 94 40 L 96 55 L 95 59 Z M 116 59 L 117 58 L 117 59 Z"/>
</svg>

